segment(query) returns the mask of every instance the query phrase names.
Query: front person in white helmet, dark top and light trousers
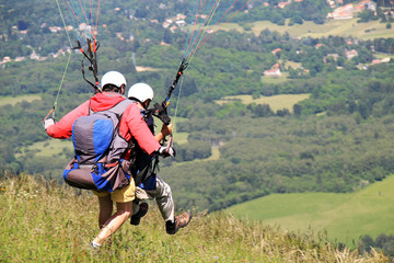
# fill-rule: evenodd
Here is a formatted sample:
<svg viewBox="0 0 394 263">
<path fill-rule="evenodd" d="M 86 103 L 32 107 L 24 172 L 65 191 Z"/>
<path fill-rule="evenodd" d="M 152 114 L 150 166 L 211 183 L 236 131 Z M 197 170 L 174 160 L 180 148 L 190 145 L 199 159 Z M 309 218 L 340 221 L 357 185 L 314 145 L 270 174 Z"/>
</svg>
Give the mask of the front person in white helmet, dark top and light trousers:
<svg viewBox="0 0 394 263">
<path fill-rule="evenodd" d="M 150 102 L 153 100 L 154 92 L 152 88 L 146 83 L 136 83 L 131 85 L 127 93 L 127 98 L 136 101 L 140 106 L 141 116 L 147 122 L 150 130 L 154 134 L 154 121 L 152 112 L 148 110 Z M 161 130 L 155 134 L 158 141 L 162 141 L 172 133 L 173 124 L 162 125 Z M 154 164 L 153 164 L 154 162 Z M 186 227 L 190 220 L 192 215 L 188 211 L 179 216 L 174 216 L 174 201 L 172 191 L 167 183 L 165 183 L 157 173 L 158 158 L 149 156 L 143 151 L 139 145 L 136 146 L 136 162 L 132 165 L 136 174 L 136 201 L 134 202 L 134 213 L 130 224 L 139 225 L 141 217 L 148 211 L 147 203 L 139 203 L 143 199 L 153 199 L 158 204 L 159 210 L 165 221 L 165 231 L 169 235 L 176 233 L 181 228 Z"/>
</svg>

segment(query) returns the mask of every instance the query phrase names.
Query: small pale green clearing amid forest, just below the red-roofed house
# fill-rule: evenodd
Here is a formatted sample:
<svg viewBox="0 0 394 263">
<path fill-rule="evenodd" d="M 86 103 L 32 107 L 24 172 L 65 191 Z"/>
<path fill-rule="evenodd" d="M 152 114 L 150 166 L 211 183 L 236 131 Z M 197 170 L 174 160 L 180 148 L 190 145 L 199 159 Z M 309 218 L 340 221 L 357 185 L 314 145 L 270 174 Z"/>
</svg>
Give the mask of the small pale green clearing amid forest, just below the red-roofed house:
<svg viewBox="0 0 394 263">
<path fill-rule="evenodd" d="M 224 96 L 223 99 L 216 102 L 221 105 L 223 103 L 229 103 L 234 100 L 241 100 L 241 102 L 244 104 L 268 104 L 274 112 L 282 108 L 288 108 L 290 112 L 292 112 L 292 107 L 296 103 L 306 100 L 309 98 L 310 94 L 282 94 L 273 96 L 260 96 L 258 99 L 253 99 L 252 95 L 234 95 Z"/>
</svg>

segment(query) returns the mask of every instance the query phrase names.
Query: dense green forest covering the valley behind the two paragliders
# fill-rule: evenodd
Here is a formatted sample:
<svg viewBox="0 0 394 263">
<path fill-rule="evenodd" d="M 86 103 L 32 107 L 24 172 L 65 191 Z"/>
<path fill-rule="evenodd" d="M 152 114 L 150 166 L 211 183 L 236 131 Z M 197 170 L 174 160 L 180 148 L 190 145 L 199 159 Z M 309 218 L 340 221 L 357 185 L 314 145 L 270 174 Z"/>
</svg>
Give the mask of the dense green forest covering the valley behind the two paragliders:
<svg viewBox="0 0 394 263">
<path fill-rule="evenodd" d="M 100 28 L 97 52 L 100 73 L 116 69 L 125 73 L 128 84 L 144 81 L 154 88 L 158 102 L 176 73 L 187 33 L 163 30 L 148 18 L 164 21 L 188 12 L 184 1 L 161 2 L 165 8 L 153 8 L 158 5 L 153 0 L 143 4 L 103 3 L 101 23 L 107 26 Z M 269 11 L 263 9 L 263 2 L 254 1 L 250 13 L 235 16 L 234 22 L 268 19 L 258 13 Z M 278 1 L 269 2 L 275 5 Z M 320 20 L 329 11 L 325 1 L 303 2 L 320 12 L 310 18 L 309 8 L 299 4 L 294 10 L 302 20 Z M 42 99 L 0 107 L 0 176 L 25 172 L 61 182 L 72 148 L 53 156 L 26 150 L 51 140 L 42 121 L 54 106 L 68 59 L 68 55 L 49 56 L 67 48 L 65 32 L 51 33 L 48 26 L 42 27 L 44 23 L 61 25 L 56 5 L 36 3 L 19 1 L 14 8 L 9 3 L 2 8 L 0 30 L 8 37 L 0 39 L 1 56 L 14 58 L 34 49 L 47 59 L 2 65 L 1 96 L 38 94 Z M 23 15 L 23 11 L 31 15 Z M 288 9 L 275 12 L 290 19 Z M 21 36 L 18 27 L 28 28 L 27 36 Z M 116 33 L 132 34 L 135 39 L 123 41 Z M 162 42 L 167 45 L 160 45 Z M 273 54 L 277 48 L 280 52 Z M 345 193 L 393 173 L 393 62 L 371 65 L 378 55 L 390 56 L 393 49 L 393 38 L 359 41 L 329 35 L 298 39 L 269 28 L 259 35 L 248 31 L 218 32 L 193 58 L 182 79 L 182 93 L 181 88 L 175 90 L 169 112 L 174 116 L 178 105 L 176 132 L 187 134 L 187 144 L 178 144 L 174 137 L 177 156 L 162 160 L 160 170 L 173 188 L 177 207 L 213 211 L 270 193 Z M 348 50 L 356 50 L 358 56 L 348 58 Z M 333 58 L 332 54 L 337 56 Z M 57 119 L 93 93 L 81 77 L 81 59 L 80 53 L 72 53 Z M 262 81 L 266 78 L 263 72 L 276 64 L 286 73 L 286 81 Z M 137 71 L 136 66 L 155 70 Z M 269 105 L 237 100 L 222 105 L 215 102 L 228 95 L 301 93 L 311 96 L 291 111 L 274 112 Z M 44 151 L 49 151 L 45 149 L 48 145 L 44 145 Z M 220 158 L 204 160 L 212 155 L 212 147 L 219 147 Z"/>
</svg>

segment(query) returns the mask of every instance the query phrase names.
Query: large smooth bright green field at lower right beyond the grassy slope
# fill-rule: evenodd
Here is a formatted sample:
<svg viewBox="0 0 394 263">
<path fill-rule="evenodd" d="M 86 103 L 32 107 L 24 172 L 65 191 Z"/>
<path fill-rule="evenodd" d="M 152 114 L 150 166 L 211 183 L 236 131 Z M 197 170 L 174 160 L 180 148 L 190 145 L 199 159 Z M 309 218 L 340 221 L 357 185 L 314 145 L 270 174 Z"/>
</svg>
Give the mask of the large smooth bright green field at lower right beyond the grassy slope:
<svg viewBox="0 0 394 263">
<path fill-rule="evenodd" d="M 327 231 L 354 245 L 363 235 L 394 235 L 394 175 L 350 194 L 273 194 L 225 209 L 237 218 L 300 232 Z"/>
</svg>

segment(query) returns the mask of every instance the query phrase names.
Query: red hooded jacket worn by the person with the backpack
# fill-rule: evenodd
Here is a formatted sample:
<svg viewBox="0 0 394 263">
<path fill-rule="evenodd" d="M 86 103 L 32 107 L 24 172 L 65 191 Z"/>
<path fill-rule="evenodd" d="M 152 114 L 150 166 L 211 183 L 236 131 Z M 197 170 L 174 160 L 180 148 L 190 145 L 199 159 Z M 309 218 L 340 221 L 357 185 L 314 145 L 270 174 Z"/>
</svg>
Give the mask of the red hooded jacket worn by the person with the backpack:
<svg viewBox="0 0 394 263">
<path fill-rule="evenodd" d="M 93 112 L 101 112 L 115 106 L 123 100 L 127 100 L 120 93 L 103 92 L 92 96 L 68 114 L 66 114 L 58 123 L 47 128 L 47 134 L 57 139 L 69 138 L 72 134 L 72 125 L 77 118 L 89 115 L 89 107 Z M 124 112 L 120 124 L 119 134 L 127 141 L 134 137 L 138 145 L 149 155 L 152 155 L 160 148 L 160 144 L 150 132 L 147 123 L 142 119 L 140 108 L 137 103 L 130 104 Z"/>
</svg>

